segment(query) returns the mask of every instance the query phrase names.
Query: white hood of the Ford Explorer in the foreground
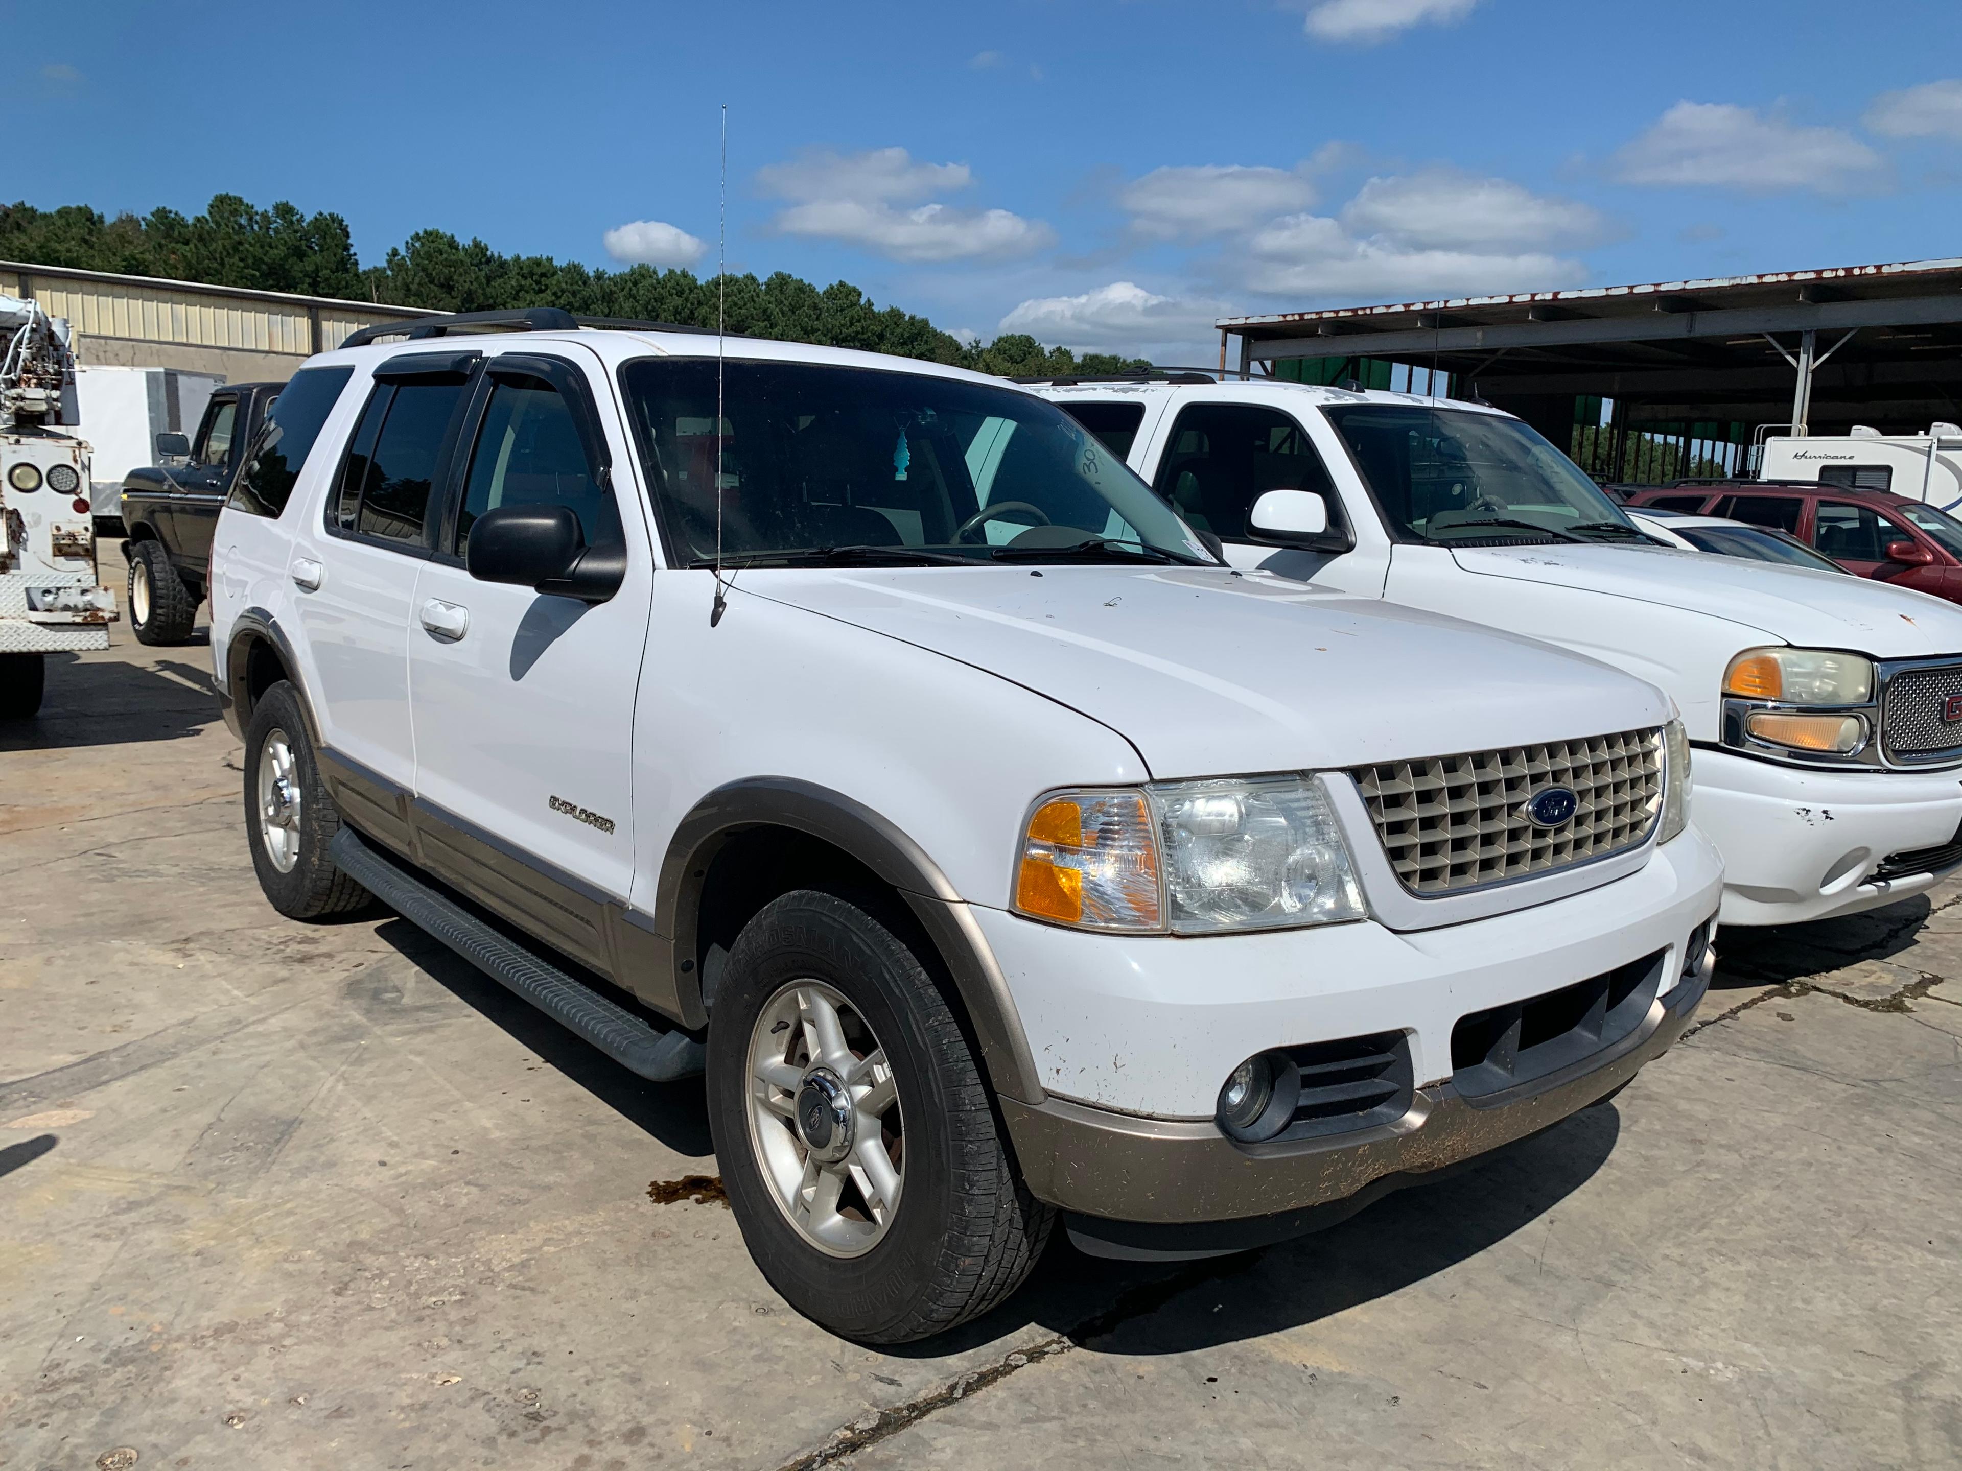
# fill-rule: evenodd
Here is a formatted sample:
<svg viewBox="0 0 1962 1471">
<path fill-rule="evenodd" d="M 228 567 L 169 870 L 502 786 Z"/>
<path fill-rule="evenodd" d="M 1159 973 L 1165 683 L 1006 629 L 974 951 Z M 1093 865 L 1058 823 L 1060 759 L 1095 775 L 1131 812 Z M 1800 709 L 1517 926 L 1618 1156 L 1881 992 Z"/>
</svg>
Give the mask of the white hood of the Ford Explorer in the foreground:
<svg viewBox="0 0 1962 1471">
<path fill-rule="evenodd" d="M 1046 694 L 1124 736 L 1160 779 L 1352 767 L 1668 718 L 1666 694 L 1593 659 L 1271 573 L 771 569 L 742 588 Z"/>
</svg>

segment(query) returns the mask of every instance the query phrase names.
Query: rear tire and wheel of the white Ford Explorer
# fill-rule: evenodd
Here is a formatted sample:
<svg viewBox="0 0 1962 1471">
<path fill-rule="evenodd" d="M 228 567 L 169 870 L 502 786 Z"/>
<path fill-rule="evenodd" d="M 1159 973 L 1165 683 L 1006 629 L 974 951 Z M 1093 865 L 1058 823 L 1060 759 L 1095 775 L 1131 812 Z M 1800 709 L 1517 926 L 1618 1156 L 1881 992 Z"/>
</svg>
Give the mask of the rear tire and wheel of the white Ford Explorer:
<svg viewBox="0 0 1962 1471">
<path fill-rule="evenodd" d="M 375 902 L 328 855 L 339 830 L 341 812 L 320 781 L 300 696 L 279 681 L 259 696 L 245 728 L 245 843 L 259 888 L 288 920 L 353 914 Z"/>
</svg>

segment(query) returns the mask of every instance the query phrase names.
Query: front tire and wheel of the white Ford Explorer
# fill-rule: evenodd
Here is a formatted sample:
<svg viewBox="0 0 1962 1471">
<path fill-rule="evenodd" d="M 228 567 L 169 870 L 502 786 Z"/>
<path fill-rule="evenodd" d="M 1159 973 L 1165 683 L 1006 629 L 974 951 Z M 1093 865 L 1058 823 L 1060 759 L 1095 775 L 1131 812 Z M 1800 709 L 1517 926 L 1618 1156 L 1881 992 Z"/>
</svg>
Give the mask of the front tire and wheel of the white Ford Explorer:
<svg viewBox="0 0 1962 1471">
<path fill-rule="evenodd" d="M 822 992 L 822 994 L 820 994 Z M 818 1179 L 812 1134 L 785 1116 L 834 1092 L 814 1092 L 808 1026 L 816 996 L 842 1018 L 848 1055 L 885 1053 L 891 1094 L 879 1128 L 887 1169 L 897 1153 L 897 1208 L 879 1222 L 877 1194 L 848 1183 L 820 1245 L 816 1212 L 793 1220 L 785 1181 Z M 771 1022 L 771 1018 L 777 1018 Z M 773 1061 L 783 1049 L 785 1061 Z M 757 1057 L 799 1091 L 763 1085 Z M 830 1053 L 826 1053 L 830 1055 Z M 799 1061 L 800 1059 L 800 1061 Z M 877 1071 L 842 1067 L 853 1102 L 848 1171 L 871 1138 L 857 1098 L 881 1094 Z M 775 1102 L 761 1102 L 769 1094 Z M 842 1118 L 844 1112 L 838 1114 Z M 861 1344 L 906 1344 L 975 1318 L 1008 1298 L 1034 1269 L 1056 1212 L 1028 1194 L 1003 1145 L 987 1083 L 967 1038 L 918 957 L 865 910 L 799 890 L 767 904 L 730 951 L 708 1024 L 708 1126 L 730 1208 L 769 1285 L 806 1318 Z M 775 1132 L 773 1132 L 775 1130 Z M 897 1151 L 895 1151 L 897 1143 Z M 785 1169 L 791 1175 L 785 1175 Z M 877 1175 L 867 1169 L 867 1179 Z M 818 1189 L 818 1187 L 814 1187 Z M 855 1220 L 852 1218 L 855 1212 Z"/>
</svg>

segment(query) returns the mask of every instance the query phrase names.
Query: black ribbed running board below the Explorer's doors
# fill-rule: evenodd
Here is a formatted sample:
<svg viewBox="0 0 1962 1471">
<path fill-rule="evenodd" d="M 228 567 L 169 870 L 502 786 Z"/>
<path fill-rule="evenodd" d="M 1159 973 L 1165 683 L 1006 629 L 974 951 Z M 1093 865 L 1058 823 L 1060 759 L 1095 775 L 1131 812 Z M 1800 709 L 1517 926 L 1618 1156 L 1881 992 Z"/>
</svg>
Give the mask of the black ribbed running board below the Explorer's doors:
<svg viewBox="0 0 1962 1471">
<path fill-rule="evenodd" d="M 375 898 L 441 939 L 498 985 L 591 1041 L 622 1067 L 653 1083 L 697 1077 L 704 1047 L 687 1032 L 661 1032 L 551 961 L 508 939 L 422 879 L 377 853 L 341 826 L 328 851 L 336 867 Z"/>
</svg>

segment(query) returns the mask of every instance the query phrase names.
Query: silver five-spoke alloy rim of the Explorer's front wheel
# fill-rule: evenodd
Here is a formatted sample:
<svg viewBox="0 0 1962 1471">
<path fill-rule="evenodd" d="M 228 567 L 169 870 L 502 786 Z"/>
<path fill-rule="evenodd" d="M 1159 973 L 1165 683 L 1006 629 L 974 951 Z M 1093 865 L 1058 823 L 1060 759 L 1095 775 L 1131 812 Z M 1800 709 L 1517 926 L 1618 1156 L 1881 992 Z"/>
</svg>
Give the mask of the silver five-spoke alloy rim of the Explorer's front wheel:
<svg viewBox="0 0 1962 1471">
<path fill-rule="evenodd" d="M 834 1257 L 871 1251 L 904 1183 L 899 1085 L 871 1024 L 822 981 L 793 981 L 749 1036 L 749 1143 L 785 1220 Z"/>
</svg>

